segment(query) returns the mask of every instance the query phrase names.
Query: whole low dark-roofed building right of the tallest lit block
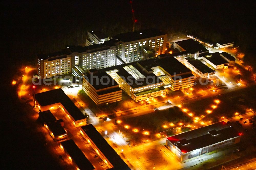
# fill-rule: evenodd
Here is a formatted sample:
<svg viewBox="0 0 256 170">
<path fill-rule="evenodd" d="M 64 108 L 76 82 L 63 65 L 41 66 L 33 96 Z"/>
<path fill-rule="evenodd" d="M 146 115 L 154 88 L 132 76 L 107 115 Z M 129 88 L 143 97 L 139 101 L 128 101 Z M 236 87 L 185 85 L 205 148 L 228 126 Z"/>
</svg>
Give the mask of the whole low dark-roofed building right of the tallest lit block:
<svg viewBox="0 0 256 170">
<path fill-rule="evenodd" d="M 174 42 L 173 48 L 178 49 L 180 52 L 186 51 L 191 54 L 192 58 L 196 59 L 199 54 L 209 52 L 205 46 L 193 39 Z"/>
</svg>

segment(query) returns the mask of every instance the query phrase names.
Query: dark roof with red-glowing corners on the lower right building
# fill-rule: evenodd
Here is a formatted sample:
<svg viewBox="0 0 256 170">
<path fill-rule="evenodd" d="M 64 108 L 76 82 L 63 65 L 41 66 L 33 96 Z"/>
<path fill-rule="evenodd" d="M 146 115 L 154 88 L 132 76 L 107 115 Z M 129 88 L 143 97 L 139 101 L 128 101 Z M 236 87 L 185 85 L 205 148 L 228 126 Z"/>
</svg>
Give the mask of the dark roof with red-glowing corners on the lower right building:
<svg viewBox="0 0 256 170">
<path fill-rule="evenodd" d="M 186 153 L 237 136 L 239 133 L 222 121 L 168 137 L 167 140 L 178 147 L 180 151 Z"/>
</svg>

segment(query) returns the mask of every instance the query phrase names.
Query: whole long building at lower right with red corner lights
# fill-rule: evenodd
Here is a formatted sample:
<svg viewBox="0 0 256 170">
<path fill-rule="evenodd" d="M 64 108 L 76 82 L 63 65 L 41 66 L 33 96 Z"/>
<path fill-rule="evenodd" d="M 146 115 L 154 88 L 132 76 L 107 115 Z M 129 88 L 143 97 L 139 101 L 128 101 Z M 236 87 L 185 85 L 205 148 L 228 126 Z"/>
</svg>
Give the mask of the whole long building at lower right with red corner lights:
<svg viewBox="0 0 256 170">
<path fill-rule="evenodd" d="M 240 138 L 239 133 L 223 121 L 168 137 L 166 145 L 184 161 L 239 143 Z"/>
</svg>

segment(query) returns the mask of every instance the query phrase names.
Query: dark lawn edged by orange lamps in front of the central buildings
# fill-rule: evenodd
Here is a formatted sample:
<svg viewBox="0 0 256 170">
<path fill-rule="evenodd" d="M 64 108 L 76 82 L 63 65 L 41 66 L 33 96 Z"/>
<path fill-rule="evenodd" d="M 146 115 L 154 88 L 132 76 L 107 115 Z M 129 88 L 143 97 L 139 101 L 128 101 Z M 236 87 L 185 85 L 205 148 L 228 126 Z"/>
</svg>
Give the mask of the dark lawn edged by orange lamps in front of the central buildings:
<svg viewBox="0 0 256 170">
<path fill-rule="evenodd" d="M 138 131 L 148 130 L 155 134 L 191 123 L 192 120 L 179 107 L 174 106 L 166 110 L 123 119 L 123 122 L 129 125 L 131 129 L 137 128 Z"/>
</svg>

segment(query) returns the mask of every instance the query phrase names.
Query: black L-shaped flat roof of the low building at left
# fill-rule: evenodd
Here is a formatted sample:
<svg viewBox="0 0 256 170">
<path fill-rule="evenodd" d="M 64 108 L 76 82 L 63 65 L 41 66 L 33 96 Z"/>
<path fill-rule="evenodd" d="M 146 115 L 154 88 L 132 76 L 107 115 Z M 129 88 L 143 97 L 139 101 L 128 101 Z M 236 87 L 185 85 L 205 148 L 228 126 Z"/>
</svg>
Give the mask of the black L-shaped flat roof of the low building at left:
<svg viewBox="0 0 256 170">
<path fill-rule="evenodd" d="M 77 106 L 69 99 L 69 97 L 60 88 L 42 92 L 42 93 L 37 93 L 35 94 L 35 96 L 36 96 L 36 101 L 41 106 L 61 103 L 75 121 L 86 118 L 83 115 L 83 113 L 77 108 Z"/>
</svg>

